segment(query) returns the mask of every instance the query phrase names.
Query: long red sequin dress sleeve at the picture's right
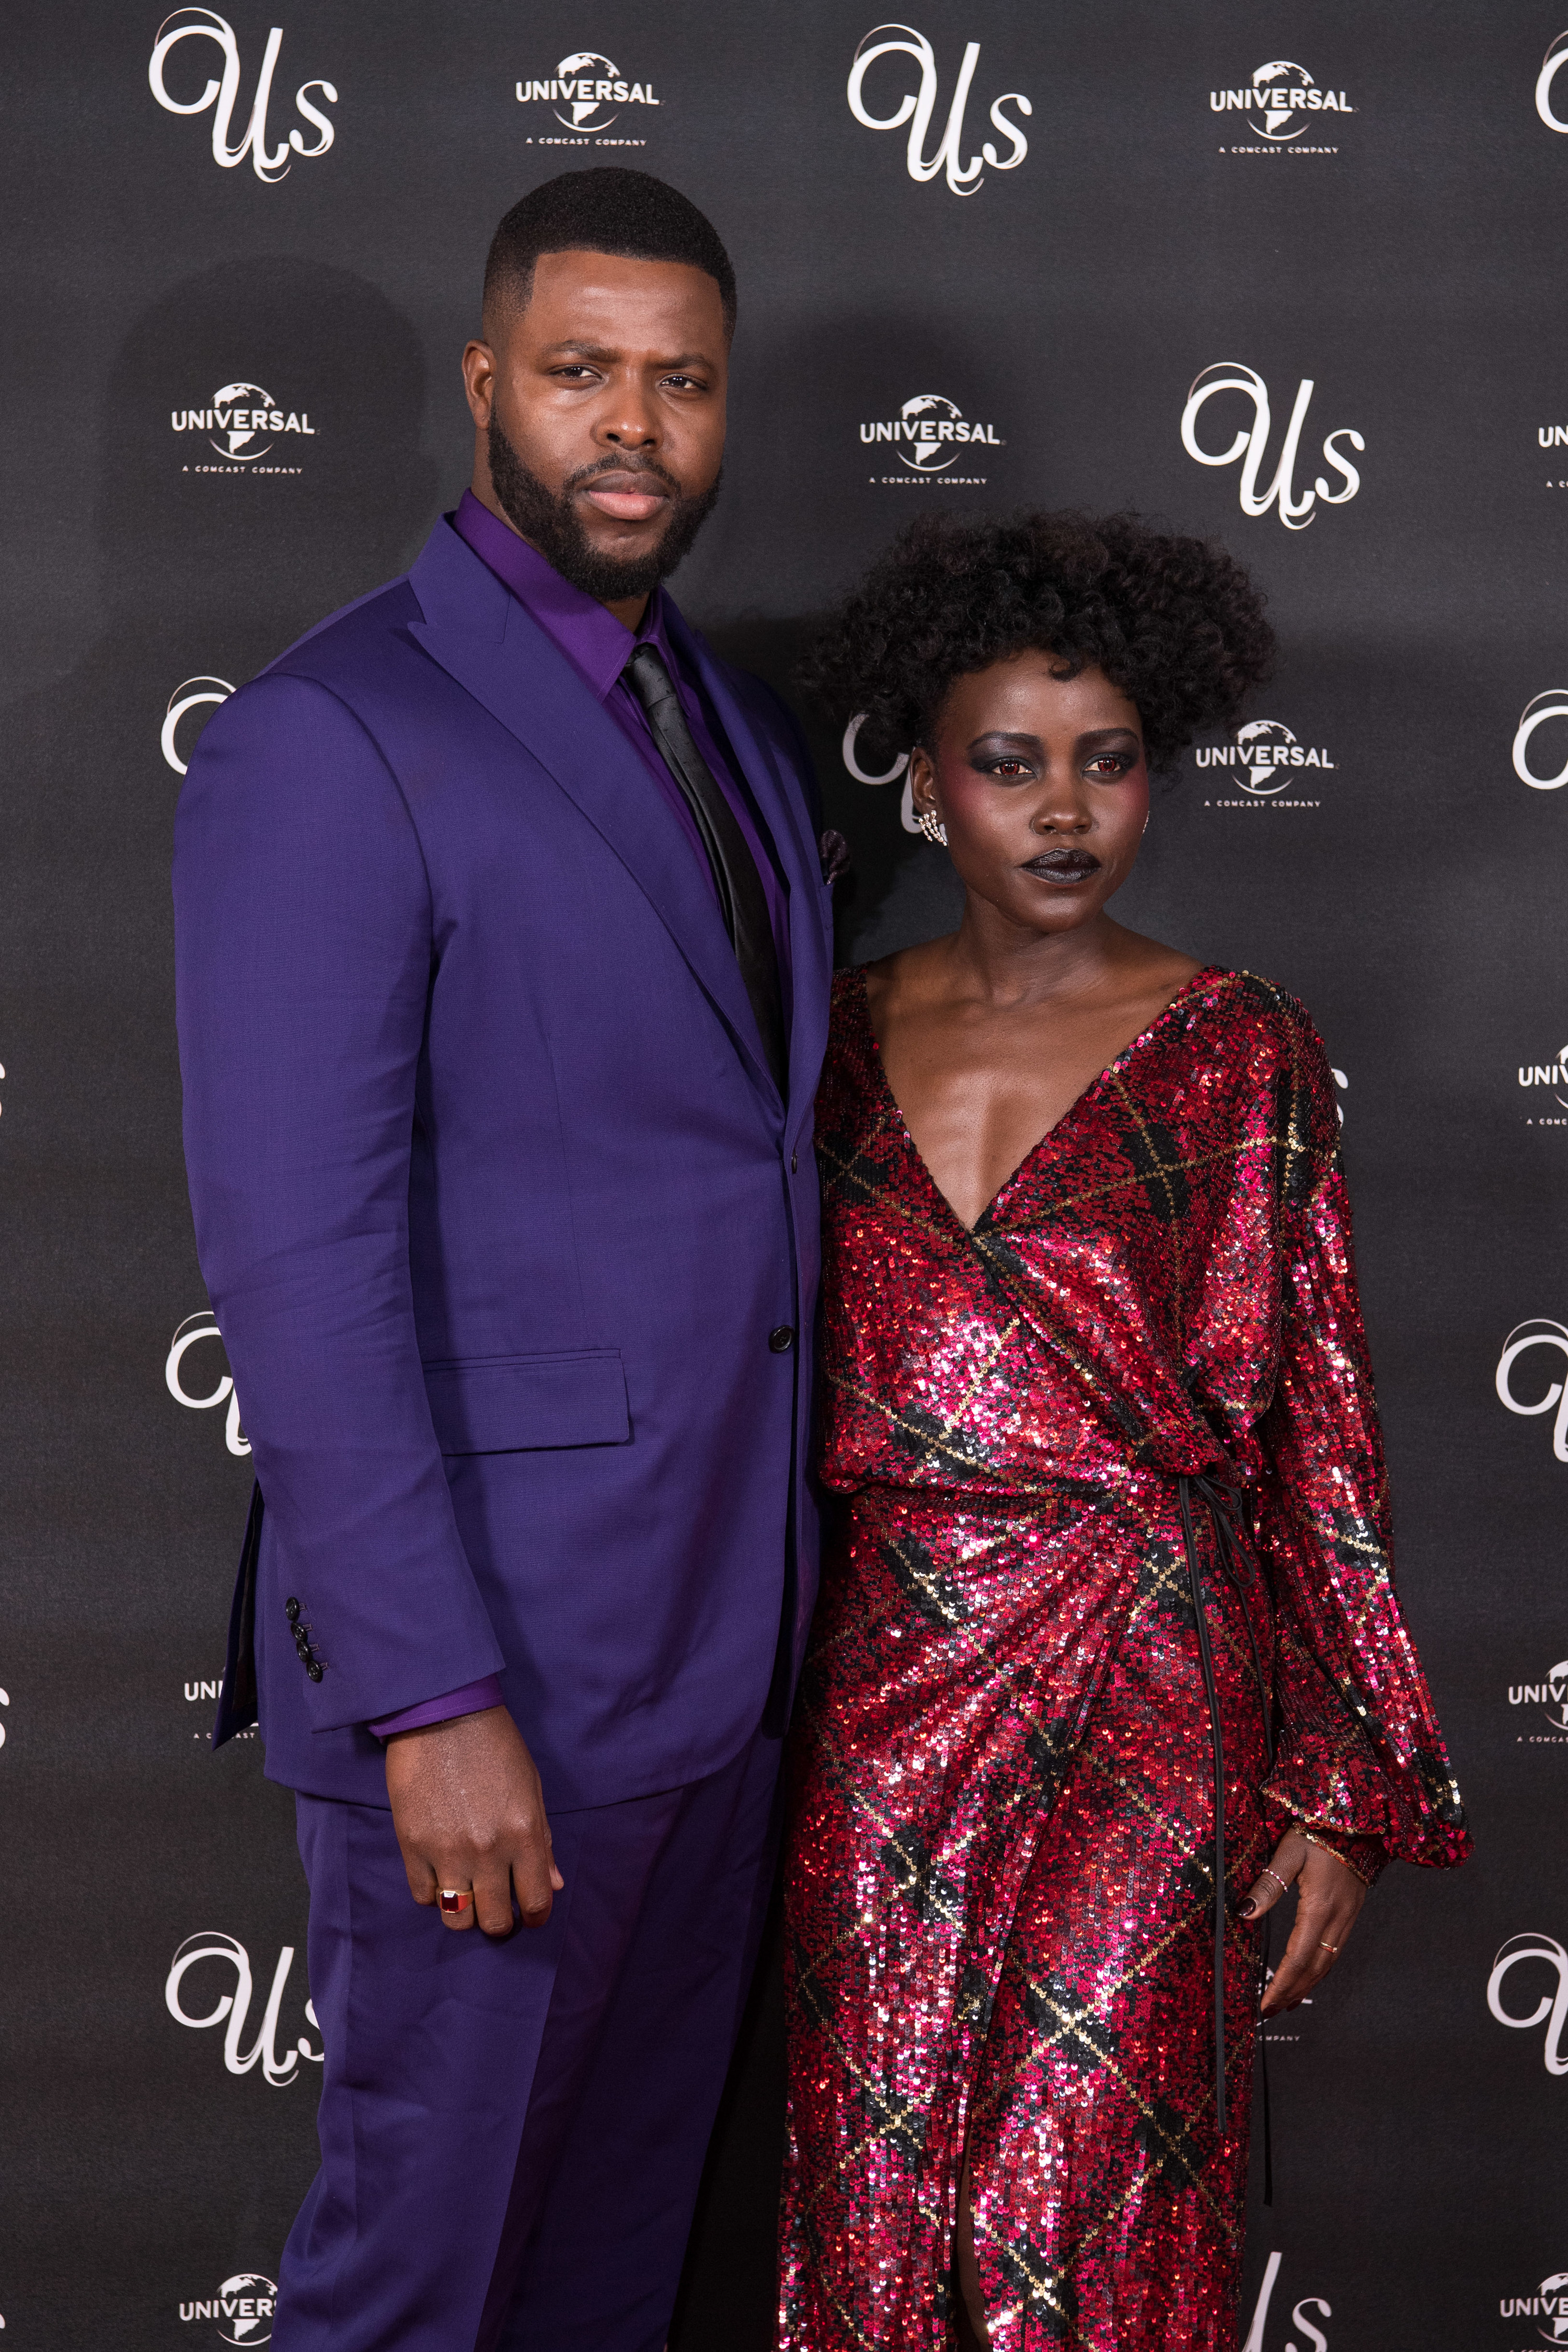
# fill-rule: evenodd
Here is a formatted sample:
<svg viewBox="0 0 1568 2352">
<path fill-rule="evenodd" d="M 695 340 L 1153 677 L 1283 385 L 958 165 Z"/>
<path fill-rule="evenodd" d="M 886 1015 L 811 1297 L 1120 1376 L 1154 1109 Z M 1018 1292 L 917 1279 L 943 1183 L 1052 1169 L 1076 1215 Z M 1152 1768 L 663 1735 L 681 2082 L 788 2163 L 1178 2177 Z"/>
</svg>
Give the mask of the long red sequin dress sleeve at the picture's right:
<svg viewBox="0 0 1568 2352">
<path fill-rule="evenodd" d="M 1302 1044 L 1295 1084 L 1281 1089 L 1281 1345 L 1258 1425 L 1281 1710 L 1265 1802 L 1281 1830 L 1321 1825 L 1371 1877 L 1382 1858 L 1460 1863 L 1469 1832 L 1394 1592 L 1333 1087 L 1316 1037 Z"/>
</svg>

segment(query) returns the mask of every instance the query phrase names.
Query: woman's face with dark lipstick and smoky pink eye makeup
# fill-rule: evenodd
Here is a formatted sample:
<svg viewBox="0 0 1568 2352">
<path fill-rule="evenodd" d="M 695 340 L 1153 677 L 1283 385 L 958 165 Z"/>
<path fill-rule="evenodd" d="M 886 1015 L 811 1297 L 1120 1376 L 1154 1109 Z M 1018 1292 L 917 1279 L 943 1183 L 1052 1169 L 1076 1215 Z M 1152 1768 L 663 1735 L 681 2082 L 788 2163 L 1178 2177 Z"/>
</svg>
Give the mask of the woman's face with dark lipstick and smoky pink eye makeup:
<svg viewBox="0 0 1568 2352">
<path fill-rule="evenodd" d="M 959 677 L 933 748 L 910 760 L 914 809 L 947 826 L 969 891 L 1030 931 L 1077 931 L 1121 889 L 1150 816 L 1143 727 L 1105 670 L 1016 654 Z"/>
</svg>

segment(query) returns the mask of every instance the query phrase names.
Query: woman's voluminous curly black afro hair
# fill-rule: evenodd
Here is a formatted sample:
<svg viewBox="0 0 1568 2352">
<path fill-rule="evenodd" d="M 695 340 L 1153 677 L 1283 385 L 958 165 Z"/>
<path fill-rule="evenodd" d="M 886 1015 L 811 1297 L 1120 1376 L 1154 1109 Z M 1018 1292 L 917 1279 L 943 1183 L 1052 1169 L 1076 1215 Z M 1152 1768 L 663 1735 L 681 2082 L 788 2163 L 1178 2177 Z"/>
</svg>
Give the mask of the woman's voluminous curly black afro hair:
<svg viewBox="0 0 1568 2352">
<path fill-rule="evenodd" d="M 1138 706 L 1152 767 L 1229 727 L 1269 675 L 1262 595 L 1225 548 L 1138 515 L 1013 515 L 907 524 L 823 623 L 806 684 L 865 746 L 929 743 L 947 689 L 1039 647 L 1088 666 Z"/>
</svg>

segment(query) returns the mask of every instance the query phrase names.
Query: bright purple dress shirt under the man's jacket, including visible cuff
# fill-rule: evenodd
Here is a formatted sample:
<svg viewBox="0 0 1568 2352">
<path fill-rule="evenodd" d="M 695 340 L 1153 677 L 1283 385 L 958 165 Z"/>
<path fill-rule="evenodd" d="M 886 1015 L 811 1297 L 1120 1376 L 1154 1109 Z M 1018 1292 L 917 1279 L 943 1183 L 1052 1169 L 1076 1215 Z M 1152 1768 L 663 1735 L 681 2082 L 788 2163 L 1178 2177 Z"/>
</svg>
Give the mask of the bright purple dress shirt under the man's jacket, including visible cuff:
<svg viewBox="0 0 1568 2352">
<path fill-rule="evenodd" d="M 712 880 L 712 868 L 708 863 L 708 851 L 703 849 L 703 837 L 696 830 L 696 818 L 686 807 L 686 797 L 677 786 L 675 776 L 665 767 L 663 753 L 654 743 L 654 734 L 646 722 L 646 713 L 637 696 L 632 694 L 625 666 L 632 659 L 635 644 L 656 644 L 658 654 L 675 682 L 682 710 L 686 713 L 686 724 L 696 748 L 701 750 L 708 769 L 712 771 L 719 790 L 736 811 L 736 823 L 745 835 L 745 844 L 757 861 L 757 875 L 762 877 L 762 889 L 769 901 L 769 920 L 773 924 L 773 950 L 778 955 L 778 983 L 783 993 L 785 1021 L 790 1018 L 790 894 L 783 875 L 771 854 L 771 844 L 764 840 L 759 818 L 752 811 L 748 793 L 733 771 L 726 750 L 719 748 L 715 724 L 703 706 L 703 696 L 696 682 L 682 668 L 675 647 L 665 633 L 665 593 L 656 588 L 649 597 L 649 609 L 642 616 L 642 628 L 637 635 L 630 633 L 614 612 L 599 604 L 595 597 L 583 595 L 571 581 L 564 581 L 559 572 L 545 562 L 538 548 L 520 539 L 510 524 L 501 522 L 482 506 L 473 489 L 463 492 L 463 501 L 456 515 L 449 517 L 458 539 L 463 539 L 473 553 L 487 564 L 498 581 L 503 581 L 527 616 L 543 628 L 552 644 L 571 661 L 571 666 L 583 675 L 588 687 L 597 694 L 604 708 L 611 713 L 616 724 L 637 746 L 649 779 L 658 788 L 670 816 L 682 828 L 686 842 L 691 844 L 691 856 L 703 868 L 703 880 L 708 882 L 715 906 L 719 903 L 717 884 Z M 482 1682 L 468 1682 L 461 1691 L 447 1691 L 442 1698 L 423 1698 L 416 1708 L 402 1708 L 397 1715 L 383 1715 L 369 1729 L 378 1740 L 390 1740 L 395 1731 L 418 1731 L 423 1724 L 444 1724 L 456 1715 L 477 1715 L 482 1708 L 501 1705 L 501 1682 L 496 1675 L 484 1675 Z"/>
</svg>

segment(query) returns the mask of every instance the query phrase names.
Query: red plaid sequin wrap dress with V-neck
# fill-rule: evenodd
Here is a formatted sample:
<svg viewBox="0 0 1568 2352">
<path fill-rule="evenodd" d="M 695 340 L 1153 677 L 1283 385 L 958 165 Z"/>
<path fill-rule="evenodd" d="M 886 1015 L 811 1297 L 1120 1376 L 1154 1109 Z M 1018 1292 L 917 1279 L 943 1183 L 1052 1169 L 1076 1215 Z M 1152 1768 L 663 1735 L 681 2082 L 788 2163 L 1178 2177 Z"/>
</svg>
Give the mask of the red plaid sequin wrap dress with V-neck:
<svg viewBox="0 0 1568 2352">
<path fill-rule="evenodd" d="M 1366 1877 L 1469 1846 L 1389 1576 L 1324 1049 L 1267 981 L 1199 971 L 969 1232 L 853 971 L 818 1155 L 846 1508 L 795 1736 L 778 2343 L 952 2343 L 969 2152 L 994 2352 L 1218 2352 L 1260 1994 L 1237 1907 L 1293 1820 Z M 1241 1491 L 1229 1548 L 1182 1475 Z"/>
</svg>

